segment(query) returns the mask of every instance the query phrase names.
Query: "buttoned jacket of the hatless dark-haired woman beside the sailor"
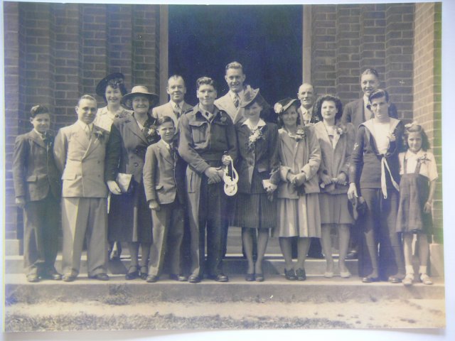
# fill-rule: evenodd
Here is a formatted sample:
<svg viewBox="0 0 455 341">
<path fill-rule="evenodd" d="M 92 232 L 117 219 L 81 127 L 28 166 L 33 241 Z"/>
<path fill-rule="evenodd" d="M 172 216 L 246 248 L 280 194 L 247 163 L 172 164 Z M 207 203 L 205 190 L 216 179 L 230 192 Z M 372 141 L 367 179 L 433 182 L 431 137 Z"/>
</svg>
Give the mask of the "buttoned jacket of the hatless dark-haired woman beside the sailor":
<svg viewBox="0 0 455 341">
<path fill-rule="evenodd" d="M 335 144 L 335 147 L 333 147 L 323 121 L 314 125 L 314 131 L 318 137 L 322 156 L 318 173 L 319 175 L 325 173 L 330 178 L 336 178 L 340 173 L 345 173 L 346 182 L 349 183 L 350 153 L 352 153 L 354 147 L 355 130 L 353 124 L 350 123 L 343 124 L 338 129 L 341 129 L 343 132 L 333 136 L 333 144 Z M 336 184 L 333 190 L 326 190 L 326 192 L 331 194 L 348 193 L 348 185 Z"/>
</svg>

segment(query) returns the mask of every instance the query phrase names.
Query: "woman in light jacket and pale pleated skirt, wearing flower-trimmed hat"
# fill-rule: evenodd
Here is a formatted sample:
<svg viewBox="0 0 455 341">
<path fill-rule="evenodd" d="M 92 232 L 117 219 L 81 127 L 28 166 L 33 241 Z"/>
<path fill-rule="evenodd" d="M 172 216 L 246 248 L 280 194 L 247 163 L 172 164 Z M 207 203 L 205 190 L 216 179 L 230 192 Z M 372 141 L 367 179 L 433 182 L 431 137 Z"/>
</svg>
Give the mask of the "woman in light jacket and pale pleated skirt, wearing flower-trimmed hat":
<svg viewBox="0 0 455 341">
<path fill-rule="evenodd" d="M 286 268 L 284 276 L 289 281 L 304 281 L 305 259 L 311 237 L 321 237 L 319 216 L 319 184 L 317 172 L 321 163 L 321 149 L 312 126 L 300 122 L 297 99 L 282 99 L 274 105 L 278 114 L 278 153 L 281 163 L 279 175 L 282 182 L 277 190 L 279 237 Z M 297 237 L 297 263 L 292 264 L 291 240 Z"/>
</svg>

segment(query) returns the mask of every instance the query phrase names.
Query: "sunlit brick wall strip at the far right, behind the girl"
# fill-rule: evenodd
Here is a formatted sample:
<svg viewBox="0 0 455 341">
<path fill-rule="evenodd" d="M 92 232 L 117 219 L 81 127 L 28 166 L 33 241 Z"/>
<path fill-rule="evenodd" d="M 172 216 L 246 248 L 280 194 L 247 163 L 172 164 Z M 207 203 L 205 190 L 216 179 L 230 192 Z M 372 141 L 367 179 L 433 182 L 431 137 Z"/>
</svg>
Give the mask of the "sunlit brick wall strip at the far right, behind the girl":
<svg viewBox="0 0 455 341">
<path fill-rule="evenodd" d="M 424 126 L 438 164 L 433 216 L 435 238 L 441 242 L 441 4 L 415 5 L 414 42 L 414 119 Z"/>
</svg>

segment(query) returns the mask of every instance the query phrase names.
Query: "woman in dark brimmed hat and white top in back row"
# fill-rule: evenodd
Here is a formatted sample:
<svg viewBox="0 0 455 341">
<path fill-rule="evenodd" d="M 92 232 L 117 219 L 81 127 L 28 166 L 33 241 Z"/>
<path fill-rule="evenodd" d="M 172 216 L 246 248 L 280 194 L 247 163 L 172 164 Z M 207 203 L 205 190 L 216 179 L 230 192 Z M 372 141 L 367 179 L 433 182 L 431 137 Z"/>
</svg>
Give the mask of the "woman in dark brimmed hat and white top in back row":
<svg viewBox="0 0 455 341">
<path fill-rule="evenodd" d="M 116 117 L 124 114 L 132 114 L 131 111 L 122 107 L 122 98 L 127 94 L 122 73 L 111 73 L 97 85 L 97 95 L 105 99 L 106 107 L 98 109 L 97 117 L 93 123 L 107 131 L 111 130 L 112 122 Z"/>
</svg>

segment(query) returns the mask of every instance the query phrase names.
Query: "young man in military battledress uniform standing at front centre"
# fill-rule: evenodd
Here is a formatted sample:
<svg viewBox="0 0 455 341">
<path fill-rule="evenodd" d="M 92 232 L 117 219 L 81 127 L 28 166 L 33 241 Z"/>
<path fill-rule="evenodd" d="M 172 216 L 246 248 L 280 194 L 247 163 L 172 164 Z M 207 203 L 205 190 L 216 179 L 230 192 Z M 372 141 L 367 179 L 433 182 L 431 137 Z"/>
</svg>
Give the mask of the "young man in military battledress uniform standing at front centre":
<svg viewBox="0 0 455 341">
<path fill-rule="evenodd" d="M 223 274 L 223 244 L 228 196 L 223 190 L 223 165 L 237 158 L 237 135 L 228 113 L 213 103 L 214 82 L 209 77 L 197 80 L 196 104 L 180 121 L 178 153 L 188 163 L 186 171 L 188 211 L 191 229 L 191 276 L 198 283 L 203 275 L 205 229 L 207 229 L 206 274 L 226 282 Z"/>
</svg>

